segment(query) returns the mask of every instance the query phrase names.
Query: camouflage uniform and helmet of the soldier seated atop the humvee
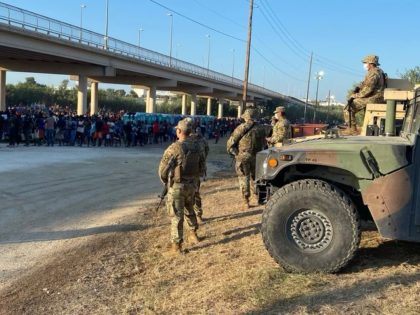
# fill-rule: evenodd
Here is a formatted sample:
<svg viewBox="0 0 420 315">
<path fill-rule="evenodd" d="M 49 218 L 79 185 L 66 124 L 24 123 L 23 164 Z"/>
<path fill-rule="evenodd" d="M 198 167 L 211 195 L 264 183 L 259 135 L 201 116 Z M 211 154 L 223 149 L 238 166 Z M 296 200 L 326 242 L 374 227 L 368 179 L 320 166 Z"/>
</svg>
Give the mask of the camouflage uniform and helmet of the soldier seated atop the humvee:
<svg viewBox="0 0 420 315">
<path fill-rule="evenodd" d="M 379 66 L 377 56 L 366 56 L 362 60 L 363 63 L 372 63 Z M 366 105 L 369 103 L 383 103 L 384 102 L 384 89 L 385 89 L 385 74 L 382 69 L 372 67 L 366 74 L 364 80 L 358 85 L 358 92 L 352 93 L 350 98 L 351 102 L 351 122 L 352 126 L 356 126 L 356 113 L 365 110 Z M 344 111 L 344 120 L 349 123 L 349 111 Z M 349 126 L 349 127 L 352 127 Z"/>
</svg>

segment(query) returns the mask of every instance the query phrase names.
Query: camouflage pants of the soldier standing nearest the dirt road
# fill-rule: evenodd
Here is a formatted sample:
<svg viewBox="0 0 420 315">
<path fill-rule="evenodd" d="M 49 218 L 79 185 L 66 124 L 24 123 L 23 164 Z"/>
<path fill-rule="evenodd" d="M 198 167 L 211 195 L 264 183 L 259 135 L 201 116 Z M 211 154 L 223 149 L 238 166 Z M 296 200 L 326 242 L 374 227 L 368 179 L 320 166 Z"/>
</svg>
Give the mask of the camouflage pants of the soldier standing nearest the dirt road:
<svg viewBox="0 0 420 315">
<path fill-rule="evenodd" d="M 197 217 L 194 213 L 194 195 L 196 186 L 192 184 L 174 183 L 168 191 L 166 207 L 171 218 L 171 242 L 182 243 L 184 240 L 184 215 L 188 228 L 198 229 Z"/>
</svg>

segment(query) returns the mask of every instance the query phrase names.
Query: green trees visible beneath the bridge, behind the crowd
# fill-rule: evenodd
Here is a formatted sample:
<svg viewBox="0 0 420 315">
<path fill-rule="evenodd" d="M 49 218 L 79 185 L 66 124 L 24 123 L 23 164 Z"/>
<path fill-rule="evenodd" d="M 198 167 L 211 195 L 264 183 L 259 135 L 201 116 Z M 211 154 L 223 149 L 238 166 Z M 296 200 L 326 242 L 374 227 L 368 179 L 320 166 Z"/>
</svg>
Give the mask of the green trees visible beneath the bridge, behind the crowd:
<svg viewBox="0 0 420 315">
<path fill-rule="evenodd" d="M 88 90 L 88 100 L 90 99 L 90 90 Z M 31 104 L 58 104 L 68 107 L 71 110 L 77 108 L 77 87 L 69 87 L 69 80 L 63 80 L 58 87 L 39 84 L 33 77 L 28 77 L 25 82 L 17 84 L 8 84 L 6 86 L 6 103 L 9 106 L 31 105 Z M 139 98 L 132 90 L 126 93 L 125 90 L 119 89 L 99 89 L 98 91 L 99 109 L 110 111 L 124 110 L 127 112 L 144 112 L 146 109 L 144 100 Z M 190 112 L 191 98 L 187 96 L 187 112 Z M 268 101 L 266 105 L 257 105 L 260 108 L 261 116 L 270 118 L 276 106 L 285 106 L 287 117 L 292 122 L 301 122 L 304 115 L 304 106 L 287 105 L 282 100 Z M 315 107 L 308 105 L 306 109 L 306 122 L 313 122 Z M 157 105 L 157 111 L 160 113 L 181 114 L 181 98 L 170 99 L 162 104 Z M 223 109 L 224 116 L 236 117 L 237 107 L 225 105 Z M 197 114 L 207 114 L 207 100 L 199 98 L 197 106 Z M 216 99 L 212 100 L 212 115 L 218 114 L 218 103 Z M 331 106 L 317 107 L 315 122 L 342 122 L 342 107 Z"/>
</svg>

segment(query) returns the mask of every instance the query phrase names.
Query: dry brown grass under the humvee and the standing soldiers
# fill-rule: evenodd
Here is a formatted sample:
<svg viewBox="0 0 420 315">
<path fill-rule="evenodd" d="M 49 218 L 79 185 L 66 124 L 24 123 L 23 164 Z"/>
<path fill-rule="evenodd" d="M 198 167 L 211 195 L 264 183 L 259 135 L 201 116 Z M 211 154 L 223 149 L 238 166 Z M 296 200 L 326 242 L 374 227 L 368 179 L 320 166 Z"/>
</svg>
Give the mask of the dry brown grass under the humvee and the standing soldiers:
<svg viewBox="0 0 420 315">
<path fill-rule="evenodd" d="M 225 174 L 226 175 L 226 174 Z M 238 206 L 235 178 L 203 185 L 198 245 L 164 255 L 165 213 L 127 218 L 135 231 L 97 236 L 2 292 L 2 314 L 417 314 L 419 245 L 363 233 L 362 248 L 337 275 L 282 271 L 264 249 L 262 208 Z M 209 193 L 206 193 L 209 192 Z"/>
</svg>

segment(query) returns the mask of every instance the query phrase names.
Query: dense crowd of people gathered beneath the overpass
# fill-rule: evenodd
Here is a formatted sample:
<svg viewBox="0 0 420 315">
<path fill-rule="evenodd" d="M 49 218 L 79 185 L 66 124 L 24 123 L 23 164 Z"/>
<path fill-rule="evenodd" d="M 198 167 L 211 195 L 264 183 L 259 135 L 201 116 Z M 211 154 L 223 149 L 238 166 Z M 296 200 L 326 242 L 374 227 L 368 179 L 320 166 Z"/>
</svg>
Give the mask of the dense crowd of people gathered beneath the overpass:
<svg viewBox="0 0 420 315">
<path fill-rule="evenodd" d="M 11 107 L 0 112 L 0 141 L 9 147 L 34 146 L 125 146 L 162 144 L 176 140 L 177 122 L 138 121 L 134 113 L 99 112 L 97 115 L 77 115 L 60 106 Z M 222 118 L 209 121 L 195 119 L 207 139 L 217 143 L 240 123 Z"/>
</svg>

